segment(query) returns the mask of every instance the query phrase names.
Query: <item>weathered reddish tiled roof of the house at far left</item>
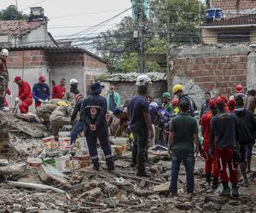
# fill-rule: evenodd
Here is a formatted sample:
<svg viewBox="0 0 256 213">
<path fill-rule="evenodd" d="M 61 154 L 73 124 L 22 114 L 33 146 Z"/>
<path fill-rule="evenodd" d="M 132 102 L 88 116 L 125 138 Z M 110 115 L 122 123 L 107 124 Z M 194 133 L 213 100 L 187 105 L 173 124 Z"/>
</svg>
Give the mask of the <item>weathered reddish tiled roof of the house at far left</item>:
<svg viewBox="0 0 256 213">
<path fill-rule="evenodd" d="M 28 20 L 1 20 L 0 35 L 20 36 L 36 29 L 44 24 L 44 21 L 28 21 Z"/>
</svg>

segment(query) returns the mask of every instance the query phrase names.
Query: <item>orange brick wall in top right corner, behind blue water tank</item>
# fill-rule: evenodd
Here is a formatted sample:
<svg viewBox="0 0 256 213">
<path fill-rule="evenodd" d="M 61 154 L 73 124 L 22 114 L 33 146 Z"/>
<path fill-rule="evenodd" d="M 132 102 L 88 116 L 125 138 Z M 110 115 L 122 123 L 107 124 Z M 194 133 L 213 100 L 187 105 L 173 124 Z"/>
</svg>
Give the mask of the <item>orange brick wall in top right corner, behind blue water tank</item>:
<svg viewBox="0 0 256 213">
<path fill-rule="evenodd" d="M 212 8 L 220 8 L 224 10 L 256 8 L 256 1 L 254 0 L 212 0 L 211 2 Z"/>
</svg>

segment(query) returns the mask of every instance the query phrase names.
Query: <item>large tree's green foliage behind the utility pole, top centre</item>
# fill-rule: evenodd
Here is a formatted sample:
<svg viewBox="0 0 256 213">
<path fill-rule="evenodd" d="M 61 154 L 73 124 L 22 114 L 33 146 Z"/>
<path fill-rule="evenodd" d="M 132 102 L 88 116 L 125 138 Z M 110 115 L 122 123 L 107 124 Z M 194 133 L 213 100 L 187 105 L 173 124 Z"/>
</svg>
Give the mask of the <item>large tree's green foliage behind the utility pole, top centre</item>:
<svg viewBox="0 0 256 213">
<path fill-rule="evenodd" d="M 150 19 L 144 20 L 144 52 L 165 54 L 169 43 L 200 43 L 200 31 L 205 6 L 201 0 L 151 0 Z M 119 25 L 96 38 L 95 48 L 108 63 L 109 72 L 137 71 L 136 23 L 125 17 Z M 165 72 L 157 62 L 147 61 L 146 69 Z"/>
</svg>

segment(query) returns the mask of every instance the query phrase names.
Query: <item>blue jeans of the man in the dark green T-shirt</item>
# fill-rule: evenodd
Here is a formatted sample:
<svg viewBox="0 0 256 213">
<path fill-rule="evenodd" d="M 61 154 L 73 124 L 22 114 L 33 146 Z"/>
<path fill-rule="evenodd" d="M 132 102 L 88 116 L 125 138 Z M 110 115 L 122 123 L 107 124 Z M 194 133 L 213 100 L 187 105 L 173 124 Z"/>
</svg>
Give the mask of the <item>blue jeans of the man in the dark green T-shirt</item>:
<svg viewBox="0 0 256 213">
<path fill-rule="evenodd" d="M 183 149 L 173 149 L 172 150 L 172 170 L 171 170 L 171 193 L 177 193 L 177 176 L 178 170 L 181 162 L 185 166 L 186 176 L 187 176 L 187 193 L 194 192 L 194 166 L 195 157 L 193 151 L 187 151 Z"/>
</svg>

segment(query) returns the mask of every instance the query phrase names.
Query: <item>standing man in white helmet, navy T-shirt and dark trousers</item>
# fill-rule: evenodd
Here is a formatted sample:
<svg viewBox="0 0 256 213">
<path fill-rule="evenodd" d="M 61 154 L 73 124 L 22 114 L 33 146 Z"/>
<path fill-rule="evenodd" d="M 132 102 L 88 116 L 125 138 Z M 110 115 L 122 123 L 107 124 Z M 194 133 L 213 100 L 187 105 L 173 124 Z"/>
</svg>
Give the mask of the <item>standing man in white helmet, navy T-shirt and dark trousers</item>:
<svg viewBox="0 0 256 213">
<path fill-rule="evenodd" d="M 151 79 L 147 75 L 142 74 L 137 77 L 137 95 L 131 98 L 127 107 L 130 128 L 134 135 L 131 165 L 134 166 L 137 164 L 137 176 L 145 177 L 150 177 L 148 171 L 145 170 L 148 133 L 150 139 L 154 137 L 150 121 L 149 103 L 146 100 L 148 83 L 151 83 Z"/>
</svg>

